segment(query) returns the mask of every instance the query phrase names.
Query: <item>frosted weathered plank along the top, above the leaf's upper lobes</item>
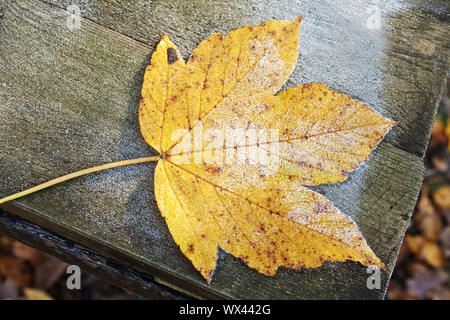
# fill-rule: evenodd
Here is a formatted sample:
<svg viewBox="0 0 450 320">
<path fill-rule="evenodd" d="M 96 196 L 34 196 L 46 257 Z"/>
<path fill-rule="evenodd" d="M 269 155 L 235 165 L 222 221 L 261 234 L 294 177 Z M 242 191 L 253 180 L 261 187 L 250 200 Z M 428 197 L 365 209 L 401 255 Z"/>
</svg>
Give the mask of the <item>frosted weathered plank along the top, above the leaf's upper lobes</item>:
<svg viewBox="0 0 450 320">
<path fill-rule="evenodd" d="M 92 0 L 79 7 L 86 19 L 152 47 L 167 33 L 185 58 L 214 32 L 301 15 L 299 61 L 285 88 L 324 82 L 363 100 L 400 121 L 390 143 L 423 156 L 449 66 L 448 1 Z"/>
</svg>

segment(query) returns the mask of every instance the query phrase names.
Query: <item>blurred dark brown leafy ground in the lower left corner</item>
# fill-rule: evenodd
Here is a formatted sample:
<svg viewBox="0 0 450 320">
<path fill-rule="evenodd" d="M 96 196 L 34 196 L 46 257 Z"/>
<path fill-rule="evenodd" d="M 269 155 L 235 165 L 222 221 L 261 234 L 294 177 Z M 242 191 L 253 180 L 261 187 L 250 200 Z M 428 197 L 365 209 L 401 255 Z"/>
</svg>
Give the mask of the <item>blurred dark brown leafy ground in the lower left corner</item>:
<svg viewBox="0 0 450 320">
<path fill-rule="evenodd" d="M 0 235 L 0 299 L 124 300 L 139 296 L 81 271 L 81 290 L 69 290 L 69 265 Z"/>
</svg>

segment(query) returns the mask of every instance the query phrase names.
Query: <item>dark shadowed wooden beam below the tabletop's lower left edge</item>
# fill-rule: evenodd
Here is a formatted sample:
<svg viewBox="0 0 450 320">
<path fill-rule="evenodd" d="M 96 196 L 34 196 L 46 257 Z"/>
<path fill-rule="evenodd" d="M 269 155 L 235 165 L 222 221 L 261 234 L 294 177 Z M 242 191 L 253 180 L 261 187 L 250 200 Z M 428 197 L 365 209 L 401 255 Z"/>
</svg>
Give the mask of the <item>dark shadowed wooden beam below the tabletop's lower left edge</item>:
<svg viewBox="0 0 450 320">
<path fill-rule="evenodd" d="M 0 210 L 0 234 L 33 246 L 67 263 L 76 264 L 83 272 L 90 272 L 147 299 L 184 300 L 190 298 L 155 283 L 154 279 L 146 274 L 122 266 L 84 246 L 3 210 Z"/>
</svg>

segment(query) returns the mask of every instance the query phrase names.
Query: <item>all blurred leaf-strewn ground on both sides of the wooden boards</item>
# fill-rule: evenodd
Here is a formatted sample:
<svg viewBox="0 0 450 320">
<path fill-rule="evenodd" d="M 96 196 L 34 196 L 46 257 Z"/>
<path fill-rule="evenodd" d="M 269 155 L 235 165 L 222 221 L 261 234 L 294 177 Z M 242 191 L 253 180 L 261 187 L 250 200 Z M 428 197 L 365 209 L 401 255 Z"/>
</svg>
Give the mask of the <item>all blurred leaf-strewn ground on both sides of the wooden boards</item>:
<svg viewBox="0 0 450 320">
<path fill-rule="evenodd" d="M 387 299 L 450 300 L 450 81 L 425 155 L 425 179 Z M 69 290 L 67 264 L 0 235 L 0 299 L 142 299 L 82 272 Z"/>
</svg>

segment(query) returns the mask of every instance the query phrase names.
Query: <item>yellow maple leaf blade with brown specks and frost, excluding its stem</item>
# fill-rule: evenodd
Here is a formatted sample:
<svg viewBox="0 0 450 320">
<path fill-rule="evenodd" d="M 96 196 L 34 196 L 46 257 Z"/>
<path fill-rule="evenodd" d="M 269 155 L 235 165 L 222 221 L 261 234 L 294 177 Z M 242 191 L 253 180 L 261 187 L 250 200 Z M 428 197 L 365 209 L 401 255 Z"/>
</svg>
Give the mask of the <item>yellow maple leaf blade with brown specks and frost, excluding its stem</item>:
<svg viewBox="0 0 450 320">
<path fill-rule="evenodd" d="M 146 69 L 139 121 L 161 154 L 155 197 L 208 282 L 218 247 L 265 275 L 347 259 L 384 268 L 352 219 L 306 186 L 344 181 L 395 122 L 320 83 L 275 95 L 300 22 L 216 33 L 187 63 L 164 35 Z"/>
</svg>

